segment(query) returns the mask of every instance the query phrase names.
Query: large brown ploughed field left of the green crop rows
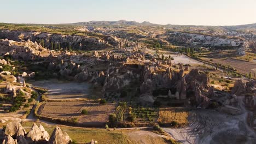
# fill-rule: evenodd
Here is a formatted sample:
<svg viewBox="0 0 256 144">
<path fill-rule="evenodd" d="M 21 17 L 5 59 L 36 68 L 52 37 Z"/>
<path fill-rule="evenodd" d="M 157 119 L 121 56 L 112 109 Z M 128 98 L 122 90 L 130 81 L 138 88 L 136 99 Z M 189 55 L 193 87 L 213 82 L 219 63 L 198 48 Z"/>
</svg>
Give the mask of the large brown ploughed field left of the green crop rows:
<svg viewBox="0 0 256 144">
<path fill-rule="evenodd" d="M 78 124 L 97 127 L 108 121 L 110 113 L 115 111 L 115 104 L 101 105 L 86 101 L 61 101 L 46 102 L 40 111 L 40 115 L 51 118 L 71 119 L 78 118 Z M 41 109 L 40 108 L 40 109 Z M 87 115 L 81 115 L 82 110 L 88 111 Z"/>
</svg>

